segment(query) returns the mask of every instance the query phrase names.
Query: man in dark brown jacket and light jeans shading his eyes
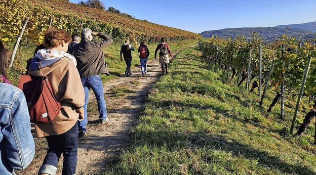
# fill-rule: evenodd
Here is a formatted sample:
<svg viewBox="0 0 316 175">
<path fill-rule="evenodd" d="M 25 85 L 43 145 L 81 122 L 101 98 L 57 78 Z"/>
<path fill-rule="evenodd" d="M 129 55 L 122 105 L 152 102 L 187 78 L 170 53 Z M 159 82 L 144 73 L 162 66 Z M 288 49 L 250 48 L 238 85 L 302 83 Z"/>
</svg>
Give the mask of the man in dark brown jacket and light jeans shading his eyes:
<svg viewBox="0 0 316 175">
<path fill-rule="evenodd" d="M 100 37 L 101 41 L 93 40 L 93 35 Z M 84 88 L 84 118 L 79 121 L 78 137 L 84 137 L 87 132 L 86 125 L 88 124 L 88 99 L 89 90 L 92 88 L 99 111 L 99 123 L 105 124 L 108 122 L 107 106 L 103 94 L 103 84 L 100 74 L 109 75 L 109 70 L 105 62 L 103 49 L 112 44 L 113 40 L 105 33 L 92 32 L 91 29 L 82 29 L 81 42 L 72 47 L 70 53 L 75 56 L 78 64 L 77 69 L 81 77 L 81 83 Z"/>
</svg>

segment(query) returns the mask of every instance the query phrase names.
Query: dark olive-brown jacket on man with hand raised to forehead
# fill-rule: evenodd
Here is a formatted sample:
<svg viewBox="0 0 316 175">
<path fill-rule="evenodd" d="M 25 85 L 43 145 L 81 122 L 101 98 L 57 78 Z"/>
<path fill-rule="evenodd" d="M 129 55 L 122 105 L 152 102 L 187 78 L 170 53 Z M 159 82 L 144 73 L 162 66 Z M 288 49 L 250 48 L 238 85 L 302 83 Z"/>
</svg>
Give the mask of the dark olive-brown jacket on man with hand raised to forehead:
<svg viewBox="0 0 316 175">
<path fill-rule="evenodd" d="M 99 32 L 98 36 L 103 40 L 81 40 L 79 44 L 74 45 L 70 50 L 70 54 L 74 55 L 77 60 L 80 77 L 99 74 L 109 75 L 103 49 L 112 44 L 113 40 L 102 32 Z"/>
</svg>

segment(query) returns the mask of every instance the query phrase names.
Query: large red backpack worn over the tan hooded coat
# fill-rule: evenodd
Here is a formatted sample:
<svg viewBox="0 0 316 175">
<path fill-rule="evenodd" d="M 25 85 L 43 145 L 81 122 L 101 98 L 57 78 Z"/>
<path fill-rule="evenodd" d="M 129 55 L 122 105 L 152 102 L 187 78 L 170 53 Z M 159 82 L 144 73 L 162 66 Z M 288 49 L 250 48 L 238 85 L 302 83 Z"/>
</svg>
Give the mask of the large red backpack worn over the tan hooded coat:
<svg viewBox="0 0 316 175">
<path fill-rule="evenodd" d="M 17 87 L 24 92 L 31 123 L 44 124 L 59 114 L 61 104 L 56 100 L 47 76 L 22 75 Z"/>
</svg>

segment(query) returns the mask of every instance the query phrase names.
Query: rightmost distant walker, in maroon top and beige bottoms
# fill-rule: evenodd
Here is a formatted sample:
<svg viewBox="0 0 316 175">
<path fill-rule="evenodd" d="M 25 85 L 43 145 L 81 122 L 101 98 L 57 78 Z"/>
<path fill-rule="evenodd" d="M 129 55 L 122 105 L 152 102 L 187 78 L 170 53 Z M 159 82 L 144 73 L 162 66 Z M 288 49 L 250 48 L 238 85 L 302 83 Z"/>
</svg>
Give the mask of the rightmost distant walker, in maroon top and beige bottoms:
<svg viewBox="0 0 316 175">
<path fill-rule="evenodd" d="M 170 51 L 169 45 L 165 43 L 165 39 L 161 38 L 161 43 L 158 44 L 155 50 L 155 59 L 157 59 L 157 51 L 159 50 L 159 63 L 161 64 L 162 74 L 164 74 L 164 67 L 166 69 L 166 74 L 168 74 L 168 64 L 169 64 L 169 55 L 173 58 Z M 163 67 L 164 66 L 164 67 Z"/>
</svg>

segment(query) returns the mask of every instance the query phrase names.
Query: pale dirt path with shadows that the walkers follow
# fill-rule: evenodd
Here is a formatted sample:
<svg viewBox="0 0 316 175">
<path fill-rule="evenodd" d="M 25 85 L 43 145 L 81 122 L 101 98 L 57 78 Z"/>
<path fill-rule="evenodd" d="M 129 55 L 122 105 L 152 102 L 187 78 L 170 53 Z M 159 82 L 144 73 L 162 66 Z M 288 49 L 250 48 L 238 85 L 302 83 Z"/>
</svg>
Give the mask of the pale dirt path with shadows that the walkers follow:
<svg viewBox="0 0 316 175">
<path fill-rule="evenodd" d="M 178 52 L 174 54 L 174 57 Z M 148 61 L 148 71 L 145 77 L 142 77 L 139 59 L 134 59 L 132 64 L 138 64 L 138 66 L 132 70 L 130 77 L 121 75 L 115 80 L 106 82 L 103 86 L 110 122 L 106 125 L 96 124 L 95 122 L 99 120 L 97 107 L 94 107 L 95 112 L 88 111 L 90 116 L 88 116 L 87 135 L 78 141 L 77 175 L 100 173 L 106 164 L 119 154 L 120 148 L 130 140 L 128 132 L 135 124 L 146 95 L 162 75 L 158 59 Z M 115 88 L 128 90 L 125 90 L 122 97 L 115 95 Z M 91 104 L 96 106 L 92 90 L 90 90 L 88 109 Z M 47 143 L 45 138 L 36 138 L 35 144 L 34 160 L 26 170 L 17 171 L 17 175 L 37 175 L 46 155 Z M 62 157 L 56 175 L 60 175 L 61 170 Z"/>
</svg>

